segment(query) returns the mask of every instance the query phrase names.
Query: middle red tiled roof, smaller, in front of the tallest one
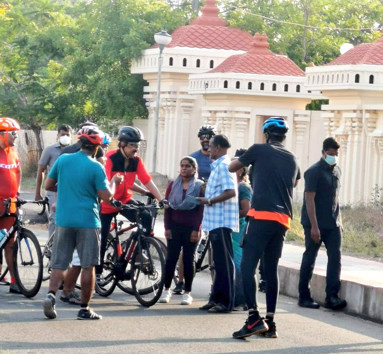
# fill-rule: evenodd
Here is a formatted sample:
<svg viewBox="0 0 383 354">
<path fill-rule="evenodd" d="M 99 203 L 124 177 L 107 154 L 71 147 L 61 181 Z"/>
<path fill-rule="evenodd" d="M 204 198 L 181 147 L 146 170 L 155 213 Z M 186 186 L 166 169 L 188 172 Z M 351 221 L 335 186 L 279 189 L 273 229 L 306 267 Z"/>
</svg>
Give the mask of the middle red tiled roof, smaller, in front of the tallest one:
<svg viewBox="0 0 383 354">
<path fill-rule="evenodd" d="M 292 60 L 268 49 L 266 33 L 256 33 L 252 48 L 245 54 L 232 55 L 210 72 L 241 72 L 246 74 L 305 76 Z"/>
</svg>

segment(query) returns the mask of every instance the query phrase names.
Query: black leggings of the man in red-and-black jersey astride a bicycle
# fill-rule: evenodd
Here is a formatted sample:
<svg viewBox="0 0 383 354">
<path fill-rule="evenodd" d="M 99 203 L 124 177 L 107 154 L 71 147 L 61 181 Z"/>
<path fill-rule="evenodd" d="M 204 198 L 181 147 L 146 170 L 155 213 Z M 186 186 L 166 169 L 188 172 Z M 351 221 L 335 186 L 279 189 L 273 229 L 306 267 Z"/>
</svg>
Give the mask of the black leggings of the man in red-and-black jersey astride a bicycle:
<svg viewBox="0 0 383 354">
<path fill-rule="evenodd" d="M 135 201 L 131 200 L 127 204 L 134 204 L 134 203 Z M 105 251 L 106 251 L 106 243 L 108 240 L 108 234 L 110 230 L 110 223 L 113 217 L 117 214 L 118 213 L 100 214 L 100 220 L 101 220 L 100 265 L 96 266 L 96 274 L 102 273 L 102 266 L 103 266 Z M 131 222 L 136 221 L 135 210 L 124 209 L 120 211 L 120 214 Z M 151 227 L 152 227 L 152 217 L 147 210 L 141 212 L 140 216 L 142 220 L 142 226 L 144 227 L 144 229 L 146 229 L 146 232 L 144 233 L 144 235 L 150 236 Z"/>
</svg>

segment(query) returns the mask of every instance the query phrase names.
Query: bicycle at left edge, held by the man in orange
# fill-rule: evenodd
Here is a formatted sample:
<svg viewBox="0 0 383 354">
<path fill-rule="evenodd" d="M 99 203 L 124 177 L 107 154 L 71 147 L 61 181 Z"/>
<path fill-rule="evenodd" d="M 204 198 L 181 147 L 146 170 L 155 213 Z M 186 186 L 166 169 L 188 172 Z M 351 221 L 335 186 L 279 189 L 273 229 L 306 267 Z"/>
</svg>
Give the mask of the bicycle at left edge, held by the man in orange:
<svg viewBox="0 0 383 354">
<path fill-rule="evenodd" d="M 42 210 L 38 215 L 45 213 L 45 206 L 49 203 L 48 199 L 39 201 L 16 199 L 16 212 L 9 213 L 9 207 L 13 203 L 11 198 L 4 202 L 5 210 L 1 217 L 14 217 L 15 221 L 8 230 L 6 236 L 0 241 L 0 252 L 4 249 L 7 241 L 16 234 L 13 246 L 13 271 L 16 283 L 22 295 L 33 298 L 41 287 L 42 282 L 42 255 L 40 244 L 37 237 L 30 230 L 22 226 L 23 212 L 21 206 L 25 203 L 42 205 Z M 0 280 L 5 276 L 8 267 L 2 272 Z"/>
</svg>

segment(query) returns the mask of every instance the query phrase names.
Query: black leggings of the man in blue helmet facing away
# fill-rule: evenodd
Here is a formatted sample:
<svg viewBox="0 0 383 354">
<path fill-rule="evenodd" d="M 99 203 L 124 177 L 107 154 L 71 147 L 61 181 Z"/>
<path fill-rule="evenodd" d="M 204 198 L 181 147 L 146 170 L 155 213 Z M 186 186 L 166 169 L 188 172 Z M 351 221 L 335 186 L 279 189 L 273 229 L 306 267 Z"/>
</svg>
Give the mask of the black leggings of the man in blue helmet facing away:
<svg viewBox="0 0 383 354">
<path fill-rule="evenodd" d="M 278 263 L 286 236 L 286 227 L 276 221 L 250 220 L 243 236 L 242 279 L 246 304 L 258 310 L 255 271 L 263 255 L 263 273 L 267 282 L 266 307 L 275 313 L 279 293 Z"/>
</svg>

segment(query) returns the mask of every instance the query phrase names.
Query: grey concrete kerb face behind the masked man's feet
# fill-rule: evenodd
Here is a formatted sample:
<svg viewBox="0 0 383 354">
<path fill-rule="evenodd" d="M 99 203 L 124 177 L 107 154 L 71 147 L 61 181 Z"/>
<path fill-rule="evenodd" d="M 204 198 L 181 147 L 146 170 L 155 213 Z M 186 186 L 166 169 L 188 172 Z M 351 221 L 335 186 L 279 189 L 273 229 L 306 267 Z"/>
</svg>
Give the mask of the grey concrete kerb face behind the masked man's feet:
<svg viewBox="0 0 383 354">
<path fill-rule="evenodd" d="M 298 264 L 281 260 L 279 264 L 280 293 L 298 298 Z M 383 287 L 366 284 L 358 278 L 342 277 L 339 296 L 347 300 L 346 310 L 352 314 L 383 322 Z M 320 304 L 326 298 L 326 274 L 314 271 L 311 296 Z"/>
</svg>

